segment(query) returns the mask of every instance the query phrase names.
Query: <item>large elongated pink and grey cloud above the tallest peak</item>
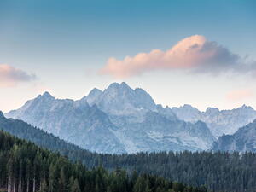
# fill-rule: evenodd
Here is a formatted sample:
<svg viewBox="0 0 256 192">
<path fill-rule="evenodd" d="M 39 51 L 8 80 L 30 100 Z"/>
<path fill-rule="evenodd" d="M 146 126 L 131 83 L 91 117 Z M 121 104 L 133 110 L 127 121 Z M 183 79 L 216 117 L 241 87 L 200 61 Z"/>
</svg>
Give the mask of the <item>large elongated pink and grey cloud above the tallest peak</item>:
<svg viewBox="0 0 256 192">
<path fill-rule="evenodd" d="M 184 38 L 171 49 L 162 51 L 153 49 L 149 53 L 139 53 L 124 60 L 109 58 L 100 74 L 112 75 L 115 78 L 126 78 L 154 70 L 184 70 L 192 73 L 224 72 L 234 69 L 241 63 L 239 55 L 229 49 L 207 41 L 201 35 Z"/>
</svg>

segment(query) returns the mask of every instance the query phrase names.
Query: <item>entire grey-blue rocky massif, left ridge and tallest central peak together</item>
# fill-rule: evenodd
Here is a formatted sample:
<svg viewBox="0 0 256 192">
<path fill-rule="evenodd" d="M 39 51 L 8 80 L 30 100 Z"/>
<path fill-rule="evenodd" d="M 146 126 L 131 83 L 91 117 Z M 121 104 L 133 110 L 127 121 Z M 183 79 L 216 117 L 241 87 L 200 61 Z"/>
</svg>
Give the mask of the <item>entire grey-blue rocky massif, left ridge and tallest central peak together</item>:
<svg viewBox="0 0 256 192">
<path fill-rule="evenodd" d="M 5 115 L 99 153 L 206 150 L 215 141 L 206 124 L 177 119 L 171 108 L 125 83 L 93 89 L 79 101 L 46 92 Z"/>
</svg>

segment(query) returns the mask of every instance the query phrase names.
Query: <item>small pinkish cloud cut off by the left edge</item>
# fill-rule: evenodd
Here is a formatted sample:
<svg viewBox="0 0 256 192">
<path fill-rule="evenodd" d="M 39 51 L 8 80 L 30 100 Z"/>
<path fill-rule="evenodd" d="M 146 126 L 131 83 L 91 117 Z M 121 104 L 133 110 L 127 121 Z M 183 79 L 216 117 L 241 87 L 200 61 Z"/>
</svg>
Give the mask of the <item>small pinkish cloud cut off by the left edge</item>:
<svg viewBox="0 0 256 192">
<path fill-rule="evenodd" d="M 29 82 L 34 79 L 36 79 L 36 76 L 33 74 L 28 74 L 7 64 L 0 64 L 0 87 L 15 86 L 21 82 Z"/>
</svg>

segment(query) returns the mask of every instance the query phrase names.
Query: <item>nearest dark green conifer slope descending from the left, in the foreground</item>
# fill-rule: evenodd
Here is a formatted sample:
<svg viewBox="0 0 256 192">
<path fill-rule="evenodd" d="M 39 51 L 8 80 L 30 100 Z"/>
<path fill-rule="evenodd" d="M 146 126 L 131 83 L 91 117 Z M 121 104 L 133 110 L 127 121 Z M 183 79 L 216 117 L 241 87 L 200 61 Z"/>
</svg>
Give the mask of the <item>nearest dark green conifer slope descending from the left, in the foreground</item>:
<svg viewBox="0 0 256 192">
<path fill-rule="evenodd" d="M 87 170 L 59 154 L 0 131 L 0 191 L 8 192 L 206 192 L 148 174 Z"/>
</svg>

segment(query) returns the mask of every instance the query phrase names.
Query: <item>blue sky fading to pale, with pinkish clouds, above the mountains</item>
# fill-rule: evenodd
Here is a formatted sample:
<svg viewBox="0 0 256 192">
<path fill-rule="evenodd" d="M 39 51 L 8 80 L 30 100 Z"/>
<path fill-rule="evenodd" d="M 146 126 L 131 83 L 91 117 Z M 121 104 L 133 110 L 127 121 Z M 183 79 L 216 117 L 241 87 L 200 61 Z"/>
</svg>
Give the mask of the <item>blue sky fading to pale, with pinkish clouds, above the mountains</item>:
<svg viewBox="0 0 256 192">
<path fill-rule="evenodd" d="M 0 110 L 125 81 L 156 103 L 256 108 L 254 0 L 1 0 Z"/>
</svg>

